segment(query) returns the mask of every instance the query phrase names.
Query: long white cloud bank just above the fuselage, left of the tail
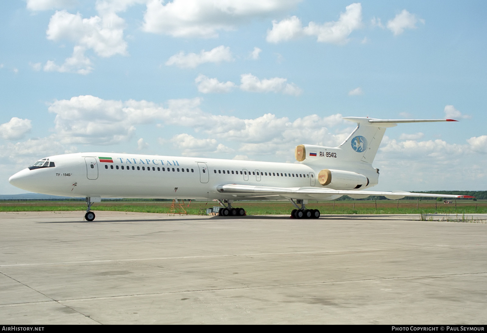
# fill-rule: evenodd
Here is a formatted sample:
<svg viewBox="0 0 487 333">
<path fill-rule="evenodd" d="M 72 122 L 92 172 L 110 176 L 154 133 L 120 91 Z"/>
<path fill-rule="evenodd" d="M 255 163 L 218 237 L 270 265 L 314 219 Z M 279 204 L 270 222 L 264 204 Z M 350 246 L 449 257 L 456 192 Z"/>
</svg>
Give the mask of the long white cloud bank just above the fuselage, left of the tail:
<svg viewBox="0 0 487 333">
<path fill-rule="evenodd" d="M 201 151 L 233 153 L 239 150 L 247 156 L 281 154 L 289 158 L 298 144 L 334 147 L 349 134 L 328 131 L 329 127 L 343 124 L 340 114 L 328 117 L 315 114 L 294 121 L 272 113 L 241 119 L 202 111 L 200 104 L 199 98 L 169 100 L 164 105 L 144 100 L 104 100 L 91 95 L 58 100 L 49 106 L 49 111 L 56 114 L 51 140 L 62 145 L 111 145 L 131 139 L 139 125 L 156 126 L 162 122 L 198 133 L 198 137 L 182 133 L 170 140 L 187 156 L 201 156 Z M 137 148 L 146 147 L 144 139 L 137 141 Z"/>
</svg>

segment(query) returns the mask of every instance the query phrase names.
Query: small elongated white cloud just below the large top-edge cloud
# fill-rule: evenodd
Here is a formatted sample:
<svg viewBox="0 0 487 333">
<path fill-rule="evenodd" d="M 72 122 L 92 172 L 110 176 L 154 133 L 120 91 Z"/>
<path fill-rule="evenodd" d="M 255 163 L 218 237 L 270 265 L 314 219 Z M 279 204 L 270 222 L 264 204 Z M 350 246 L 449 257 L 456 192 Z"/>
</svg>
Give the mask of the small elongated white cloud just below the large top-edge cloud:
<svg viewBox="0 0 487 333">
<path fill-rule="evenodd" d="M 222 61 L 233 61 L 232 53 L 229 47 L 223 45 L 217 46 L 210 51 L 202 50 L 199 54 L 185 54 L 183 51 L 171 56 L 166 61 L 166 66 L 175 65 L 180 68 L 195 68 L 206 62 L 219 63 Z"/>
</svg>

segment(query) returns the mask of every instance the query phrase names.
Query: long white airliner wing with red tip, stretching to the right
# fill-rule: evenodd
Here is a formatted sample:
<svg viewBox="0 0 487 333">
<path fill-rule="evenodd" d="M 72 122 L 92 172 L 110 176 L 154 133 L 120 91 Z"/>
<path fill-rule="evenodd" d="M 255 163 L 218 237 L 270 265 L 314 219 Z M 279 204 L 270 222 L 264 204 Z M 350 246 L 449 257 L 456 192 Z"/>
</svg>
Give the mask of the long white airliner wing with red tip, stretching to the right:
<svg viewBox="0 0 487 333">
<path fill-rule="evenodd" d="M 402 199 L 404 197 L 432 197 L 432 198 L 475 198 L 469 195 L 434 194 L 434 193 L 414 193 L 405 191 L 357 191 L 357 190 L 335 190 L 330 188 L 316 187 L 271 187 L 254 185 L 226 184 L 218 185 L 216 189 L 219 193 L 234 195 L 236 197 L 268 197 L 280 196 L 286 199 L 326 199 L 330 196 L 348 195 L 352 198 L 366 198 L 370 195 L 383 195 L 388 199 Z"/>
</svg>

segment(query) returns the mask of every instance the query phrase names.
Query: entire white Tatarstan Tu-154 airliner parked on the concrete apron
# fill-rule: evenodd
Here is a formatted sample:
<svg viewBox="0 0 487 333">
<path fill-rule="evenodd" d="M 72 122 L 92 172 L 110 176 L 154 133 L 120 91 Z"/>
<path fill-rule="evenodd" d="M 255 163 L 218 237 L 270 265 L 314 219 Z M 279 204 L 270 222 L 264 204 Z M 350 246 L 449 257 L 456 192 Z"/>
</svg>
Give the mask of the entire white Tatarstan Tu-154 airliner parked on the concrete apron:
<svg viewBox="0 0 487 333">
<path fill-rule="evenodd" d="M 319 218 L 308 200 L 354 199 L 381 195 L 473 198 L 404 191 L 369 191 L 378 184 L 372 166 L 384 132 L 398 123 L 456 121 L 453 119 L 375 119 L 344 117 L 356 129 L 338 147 L 299 145 L 299 163 L 238 161 L 164 155 L 88 152 L 49 156 L 10 177 L 10 184 L 31 192 L 86 198 L 85 219 L 93 221 L 94 202 L 101 198 L 218 200 L 221 216 L 243 216 L 238 200 L 289 200 L 291 217 Z"/>
</svg>

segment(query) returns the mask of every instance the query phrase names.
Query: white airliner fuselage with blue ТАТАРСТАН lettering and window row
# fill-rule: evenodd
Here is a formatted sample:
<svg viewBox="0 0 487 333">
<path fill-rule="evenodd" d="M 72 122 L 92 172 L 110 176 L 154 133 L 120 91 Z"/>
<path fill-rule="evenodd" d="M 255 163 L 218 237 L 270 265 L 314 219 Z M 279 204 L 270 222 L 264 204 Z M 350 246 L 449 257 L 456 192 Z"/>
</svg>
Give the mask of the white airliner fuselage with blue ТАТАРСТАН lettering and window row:
<svg viewBox="0 0 487 333">
<path fill-rule="evenodd" d="M 323 188 L 317 174 L 327 167 L 325 159 L 306 165 L 100 152 L 56 155 L 49 160 L 54 167 L 23 169 L 10 177 L 10 183 L 32 192 L 70 197 L 272 200 L 282 197 L 220 193 L 217 186 Z M 363 188 L 377 184 L 378 174 L 370 164 L 355 165 L 354 170 L 357 167 L 371 180 Z M 312 199 L 309 195 L 293 198 Z"/>
</svg>

